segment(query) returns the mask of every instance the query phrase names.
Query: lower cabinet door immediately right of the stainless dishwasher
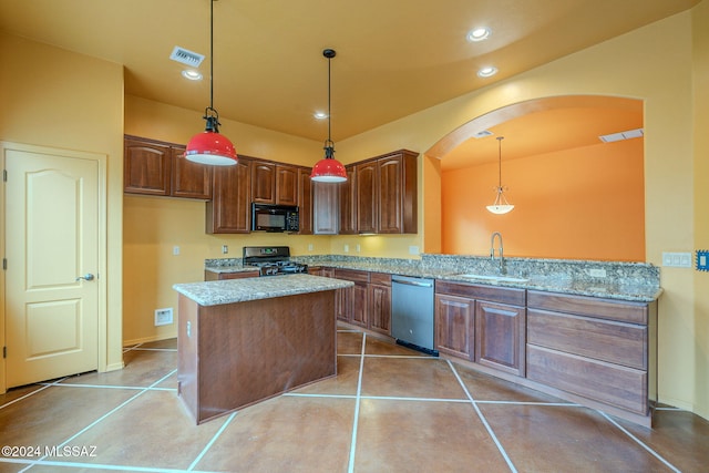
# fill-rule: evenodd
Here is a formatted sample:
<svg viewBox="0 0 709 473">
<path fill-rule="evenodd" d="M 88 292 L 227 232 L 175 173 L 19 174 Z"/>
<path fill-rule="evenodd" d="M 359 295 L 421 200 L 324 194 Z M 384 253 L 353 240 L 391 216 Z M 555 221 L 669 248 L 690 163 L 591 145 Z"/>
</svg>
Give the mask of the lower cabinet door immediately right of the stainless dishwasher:
<svg viewBox="0 0 709 473">
<path fill-rule="evenodd" d="M 473 361 L 475 300 L 435 295 L 435 349 L 441 353 Z"/>
</svg>

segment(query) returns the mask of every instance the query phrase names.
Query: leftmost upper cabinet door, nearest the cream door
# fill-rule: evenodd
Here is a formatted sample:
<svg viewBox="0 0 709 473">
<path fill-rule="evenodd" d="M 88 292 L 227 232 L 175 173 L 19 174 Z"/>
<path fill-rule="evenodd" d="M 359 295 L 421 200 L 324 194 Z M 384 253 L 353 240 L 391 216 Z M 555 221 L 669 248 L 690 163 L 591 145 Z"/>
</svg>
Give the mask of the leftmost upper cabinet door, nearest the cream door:
<svg viewBox="0 0 709 473">
<path fill-rule="evenodd" d="M 169 145 L 126 137 L 123 142 L 123 189 L 133 194 L 169 195 Z"/>
</svg>

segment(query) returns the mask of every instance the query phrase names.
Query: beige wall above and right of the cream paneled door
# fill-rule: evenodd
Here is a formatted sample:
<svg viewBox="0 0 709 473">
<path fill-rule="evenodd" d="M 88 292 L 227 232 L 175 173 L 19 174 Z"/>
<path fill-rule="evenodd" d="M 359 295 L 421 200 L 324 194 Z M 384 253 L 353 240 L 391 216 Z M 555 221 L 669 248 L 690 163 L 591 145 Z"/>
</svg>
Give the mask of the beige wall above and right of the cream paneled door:
<svg viewBox="0 0 709 473">
<path fill-rule="evenodd" d="M 123 68 L 3 32 L 0 58 L 0 140 L 107 156 L 107 274 L 101 275 L 107 292 L 99 368 L 119 369 L 123 366 Z M 4 376 L 0 377 L 2 384 Z"/>
</svg>

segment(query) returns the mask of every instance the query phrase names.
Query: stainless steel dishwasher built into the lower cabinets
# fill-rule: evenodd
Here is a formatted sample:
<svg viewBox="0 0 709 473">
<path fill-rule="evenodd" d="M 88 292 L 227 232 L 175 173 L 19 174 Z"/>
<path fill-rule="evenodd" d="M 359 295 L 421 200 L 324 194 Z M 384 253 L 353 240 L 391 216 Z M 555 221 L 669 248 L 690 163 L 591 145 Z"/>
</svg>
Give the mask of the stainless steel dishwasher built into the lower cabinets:
<svg viewBox="0 0 709 473">
<path fill-rule="evenodd" d="M 399 345 L 438 357 L 433 349 L 433 279 L 391 277 L 391 336 Z"/>
</svg>

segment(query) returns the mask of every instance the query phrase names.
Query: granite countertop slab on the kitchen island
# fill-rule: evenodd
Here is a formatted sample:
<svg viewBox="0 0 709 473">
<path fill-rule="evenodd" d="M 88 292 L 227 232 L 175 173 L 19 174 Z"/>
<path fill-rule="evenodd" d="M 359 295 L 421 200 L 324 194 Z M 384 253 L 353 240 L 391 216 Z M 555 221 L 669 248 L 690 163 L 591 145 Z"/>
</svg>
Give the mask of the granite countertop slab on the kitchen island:
<svg viewBox="0 0 709 473">
<path fill-rule="evenodd" d="M 351 281 L 320 276 L 287 275 L 176 284 L 173 289 L 201 306 L 219 306 L 223 304 L 245 302 L 247 300 L 335 290 L 353 285 L 354 282 Z"/>
</svg>

